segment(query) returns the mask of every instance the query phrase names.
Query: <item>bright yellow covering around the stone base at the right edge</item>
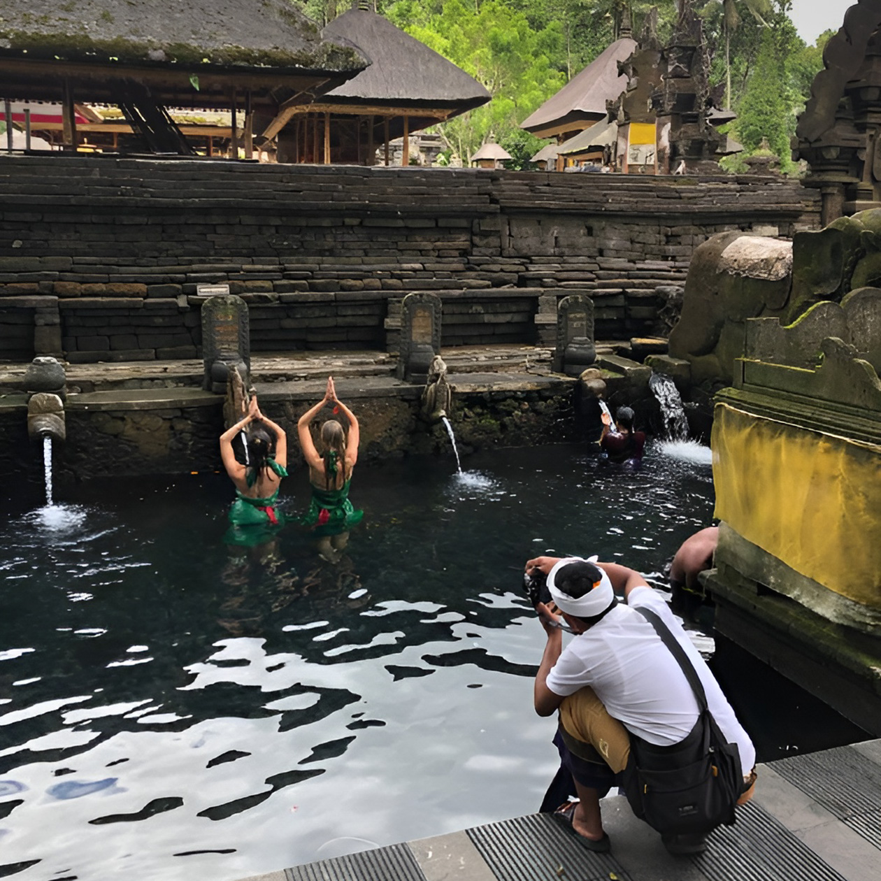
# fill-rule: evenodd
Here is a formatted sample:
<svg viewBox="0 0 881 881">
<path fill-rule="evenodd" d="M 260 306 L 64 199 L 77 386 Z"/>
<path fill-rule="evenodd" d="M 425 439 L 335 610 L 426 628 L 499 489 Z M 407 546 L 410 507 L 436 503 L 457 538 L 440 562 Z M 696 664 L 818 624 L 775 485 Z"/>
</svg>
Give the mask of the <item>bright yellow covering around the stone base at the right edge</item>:
<svg viewBox="0 0 881 881">
<path fill-rule="evenodd" d="M 715 515 L 796 572 L 881 608 L 881 447 L 715 407 Z"/>
</svg>

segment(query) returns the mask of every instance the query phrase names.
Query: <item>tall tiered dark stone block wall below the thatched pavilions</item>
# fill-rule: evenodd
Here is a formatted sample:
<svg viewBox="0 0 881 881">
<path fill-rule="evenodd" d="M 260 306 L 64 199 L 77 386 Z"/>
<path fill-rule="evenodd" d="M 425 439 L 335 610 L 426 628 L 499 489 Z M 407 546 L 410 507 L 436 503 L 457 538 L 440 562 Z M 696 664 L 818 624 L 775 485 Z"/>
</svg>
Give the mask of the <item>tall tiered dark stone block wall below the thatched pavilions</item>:
<svg viewBox="0 0 881 881">
<path fill-rule="evenodd" d="M 0 357 L 196 358 L 200 283 L 248 301 L 255 352 L 394 351 L 411 291 L 444 345 L 552 344 L 571 292 L 627 338 L 710 234 L 817 225 L 781 178 L 0 156 Z"/>
</svg>

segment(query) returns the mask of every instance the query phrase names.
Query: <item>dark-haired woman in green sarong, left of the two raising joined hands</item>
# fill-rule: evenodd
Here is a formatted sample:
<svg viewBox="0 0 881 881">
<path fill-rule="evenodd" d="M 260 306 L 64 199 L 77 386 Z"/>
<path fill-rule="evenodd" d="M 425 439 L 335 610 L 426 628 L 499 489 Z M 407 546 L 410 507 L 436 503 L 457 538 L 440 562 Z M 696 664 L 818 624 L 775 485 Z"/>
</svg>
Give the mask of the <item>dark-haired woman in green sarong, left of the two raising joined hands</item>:
<svg viewBox="0 0 881 881">
<path fill-rule="evenodd" d="M 244 432 L 244 464 L 233 450 L 233 438 L 240 432 Z M 285 518 L 276 508 L 276 500 L 281 478 L 287 477 L 287 435 L 281 426 L 263 416 L 256 395 L 248 403 L 245 416 L 220 435 L 220 457 L 235 485 L 236 500 L 229 512 L 233 527 L 281 526 Z M 264 540 L 256 534 L 246 535 L 253 541 L 235 543 L 259 544 Z"/>
</svg>

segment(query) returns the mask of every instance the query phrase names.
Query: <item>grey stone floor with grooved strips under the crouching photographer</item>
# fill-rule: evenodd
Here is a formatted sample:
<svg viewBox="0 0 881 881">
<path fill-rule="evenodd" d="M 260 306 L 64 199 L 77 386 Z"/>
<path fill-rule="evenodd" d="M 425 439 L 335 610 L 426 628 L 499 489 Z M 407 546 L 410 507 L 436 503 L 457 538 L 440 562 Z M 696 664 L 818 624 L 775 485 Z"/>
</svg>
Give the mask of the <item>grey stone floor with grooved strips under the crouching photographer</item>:
<svg viewBox="0 0 881 881">
<path fill-rule="evenodd" d="M 247 881 L 878 881 L 881 740 L 759 765 L 737 824 L 705 854 L 675 857 L 603 800 L 611 854 L 598 855 L 547 814 L 532 814 L 386 848 L 311 862 Z"/>
</svg>

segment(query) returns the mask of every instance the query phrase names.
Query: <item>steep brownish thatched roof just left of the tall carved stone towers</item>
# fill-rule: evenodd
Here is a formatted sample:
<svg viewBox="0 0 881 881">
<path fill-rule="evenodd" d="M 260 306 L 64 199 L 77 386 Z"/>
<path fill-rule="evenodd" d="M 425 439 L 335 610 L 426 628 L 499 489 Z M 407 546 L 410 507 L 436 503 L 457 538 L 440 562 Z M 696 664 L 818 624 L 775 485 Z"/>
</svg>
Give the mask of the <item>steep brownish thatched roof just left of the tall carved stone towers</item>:
<svg viewBox="0 0 881 881">
<path fill-rule="evenodd" d="M 618 72 L 618 62 L 626 61 L 636 47 L 630 36 L 613 42 L 520 127 L 536 137 L 556 137 L 562 144 L 574 132 L 599 122 L 606 116 L 606 101 L 618 98 L 627 87 L 627 76 Z"/>
</svg>

